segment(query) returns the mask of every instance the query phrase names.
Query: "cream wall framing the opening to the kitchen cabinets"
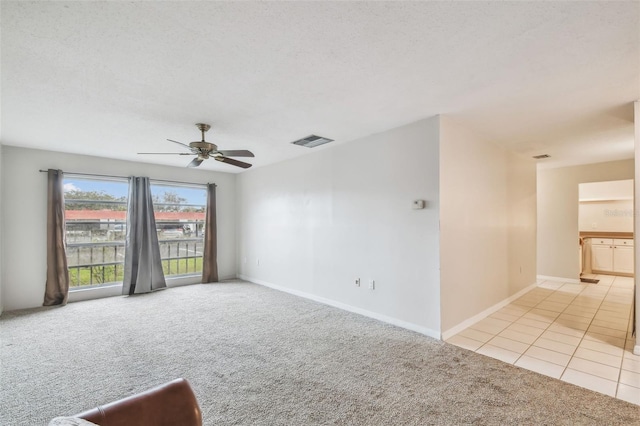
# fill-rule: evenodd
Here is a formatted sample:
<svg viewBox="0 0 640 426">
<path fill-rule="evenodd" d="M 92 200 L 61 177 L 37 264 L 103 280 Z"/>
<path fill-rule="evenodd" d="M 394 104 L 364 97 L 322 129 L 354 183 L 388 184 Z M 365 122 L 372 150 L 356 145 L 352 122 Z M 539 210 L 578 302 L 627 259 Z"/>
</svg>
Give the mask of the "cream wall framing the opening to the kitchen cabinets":
<svg viewBox="0 0 640 426">
<path fill-rule="evenodd" d="M 538 171 L 538 274 L 577 280 L 578 185 L 634 178 L 634 160 Z"/>
</svg>

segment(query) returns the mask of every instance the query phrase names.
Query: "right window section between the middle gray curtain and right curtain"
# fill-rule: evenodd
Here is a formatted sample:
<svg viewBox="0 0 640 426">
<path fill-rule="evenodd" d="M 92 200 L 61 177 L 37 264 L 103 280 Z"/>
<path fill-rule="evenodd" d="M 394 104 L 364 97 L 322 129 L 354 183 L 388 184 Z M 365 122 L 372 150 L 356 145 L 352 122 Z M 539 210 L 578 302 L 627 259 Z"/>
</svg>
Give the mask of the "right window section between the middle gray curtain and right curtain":
<svg viewBox="0 0 640 426">
<path fill-rule="evenodd" d="M 206 189 L 152 181 L 151 195 L 165 277 L 202 273 Z"/>
</svg>

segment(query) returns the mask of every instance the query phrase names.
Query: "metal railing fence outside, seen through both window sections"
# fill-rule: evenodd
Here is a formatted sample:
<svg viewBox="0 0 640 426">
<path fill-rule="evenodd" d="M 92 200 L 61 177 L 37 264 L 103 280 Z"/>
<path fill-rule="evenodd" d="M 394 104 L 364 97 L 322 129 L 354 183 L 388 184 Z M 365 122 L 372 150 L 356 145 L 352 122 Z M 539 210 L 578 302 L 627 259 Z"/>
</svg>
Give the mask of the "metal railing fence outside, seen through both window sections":
<svg viewBox="0 0 640 426">
<path fill-rule="evenodd" d="M 165 276 L 202 272 L 203 238 L 159 240 Z M 122 282 L 124 241 L 67 244 L 71 287 L 88 287 Z"/>
</svg>

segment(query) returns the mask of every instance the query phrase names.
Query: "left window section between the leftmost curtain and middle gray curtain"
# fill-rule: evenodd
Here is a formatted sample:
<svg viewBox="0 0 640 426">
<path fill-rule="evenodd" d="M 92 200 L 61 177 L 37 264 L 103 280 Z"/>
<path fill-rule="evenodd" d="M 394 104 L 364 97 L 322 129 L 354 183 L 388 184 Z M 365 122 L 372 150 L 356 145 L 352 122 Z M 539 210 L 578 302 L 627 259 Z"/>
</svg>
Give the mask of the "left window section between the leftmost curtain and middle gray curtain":
<svg viewBox="0 0 640 426">
<path fill-rule="evenodd" d="M 71 289 L 122 282 L 128 191 L 126 179 L 65 176 Z"/>
</svg>

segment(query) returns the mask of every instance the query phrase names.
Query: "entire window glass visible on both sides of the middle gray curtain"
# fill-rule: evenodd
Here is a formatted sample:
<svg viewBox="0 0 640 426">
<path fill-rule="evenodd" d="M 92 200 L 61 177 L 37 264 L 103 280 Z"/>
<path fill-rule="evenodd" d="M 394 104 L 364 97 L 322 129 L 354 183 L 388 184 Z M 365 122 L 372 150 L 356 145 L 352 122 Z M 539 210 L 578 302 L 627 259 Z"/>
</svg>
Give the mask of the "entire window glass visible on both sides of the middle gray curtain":
<svg viewBox="0 0 640 426">
<path fill-rule="evenodd" d="M 121 283 L 127 233 L 127 179 L 64 178 L 71 289 Z M 165 277 L 202 273 L 204 187 L 151 185 Z"/>
</svg>

